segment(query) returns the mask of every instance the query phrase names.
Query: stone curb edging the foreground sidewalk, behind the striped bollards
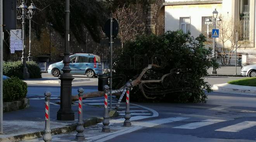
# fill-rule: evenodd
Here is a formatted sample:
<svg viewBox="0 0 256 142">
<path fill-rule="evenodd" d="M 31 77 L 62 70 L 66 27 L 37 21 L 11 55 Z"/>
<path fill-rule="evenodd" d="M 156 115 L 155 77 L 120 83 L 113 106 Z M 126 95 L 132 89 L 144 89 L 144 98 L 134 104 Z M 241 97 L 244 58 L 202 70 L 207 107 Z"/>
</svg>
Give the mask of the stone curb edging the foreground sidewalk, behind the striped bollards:
<svg viewBox="0 0 256 142">
<path fill-rule="evenodd" d="M 101 123 L 102 121 L 103 121 L 103 118 L 97 118 L 97 117 L 88 118 L 86 120 L 83 120 L 83 122 L 84 122 L 83 127 L 89 127 L 91 125 L 96 125 L 97 123 Z M 76 123 L 72 123 L 72 124 L 66 125 L 64 127 L 53 128 L 51 134 L 56 135 L 56 134 L 72 132 L 72 131 L 76 130 L 76 125 L 77 125 Z M 6 137 L 6 138 L 0 138 L 0 141 L 1 142 L 19 142 L 19 141 L 23 141 L 23 140 L 36 139 L 36 138 L 40 138 L 40 137 L 43 137 L 43 131 L 22 134 L 22 135 L 16 135 L 16 136 L 11 136 L 11 137 Z"/>
</svg>

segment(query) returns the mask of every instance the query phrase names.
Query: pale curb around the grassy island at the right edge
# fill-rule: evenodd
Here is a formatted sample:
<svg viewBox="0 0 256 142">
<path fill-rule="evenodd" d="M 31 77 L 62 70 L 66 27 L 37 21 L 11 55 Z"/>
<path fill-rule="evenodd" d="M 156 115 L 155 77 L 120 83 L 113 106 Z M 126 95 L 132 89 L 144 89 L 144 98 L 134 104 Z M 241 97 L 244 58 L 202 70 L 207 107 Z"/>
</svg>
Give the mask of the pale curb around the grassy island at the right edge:
<svg viewBox="0 0 256 142">
<path fill-rule="evenodd" d="M 227 87 L 225 85 L 228 85 Z M 227 91 L 227 92 L 235 92 L 235 93 L 256 93 L 256 87 L 252 87 L 252 89 L 242 88 L 244 86 L 241 85 L 230 85 L 228 83 L 213 85 L 212 90 L 215 91 Z"/>
</svg>

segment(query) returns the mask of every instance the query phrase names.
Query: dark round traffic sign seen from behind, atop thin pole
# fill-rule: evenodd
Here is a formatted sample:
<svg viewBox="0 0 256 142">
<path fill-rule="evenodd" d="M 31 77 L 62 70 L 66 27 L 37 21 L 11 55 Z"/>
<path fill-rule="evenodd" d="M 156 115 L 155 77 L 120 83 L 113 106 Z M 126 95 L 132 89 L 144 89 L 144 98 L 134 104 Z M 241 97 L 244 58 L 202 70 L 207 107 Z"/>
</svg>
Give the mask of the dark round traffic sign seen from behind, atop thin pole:
<svg viewBox="0 0 256 142">
<path fill-rule="evenodd" d="M 110 19 L 107 20 L 106 24 L 104 25 L 104 33 L 107 35 L 107 37 L 110 38 Z M 116 38 L 118 35 L 118 21 L 116 19 L 112 19 L 112 38 Z"/>
</svg>

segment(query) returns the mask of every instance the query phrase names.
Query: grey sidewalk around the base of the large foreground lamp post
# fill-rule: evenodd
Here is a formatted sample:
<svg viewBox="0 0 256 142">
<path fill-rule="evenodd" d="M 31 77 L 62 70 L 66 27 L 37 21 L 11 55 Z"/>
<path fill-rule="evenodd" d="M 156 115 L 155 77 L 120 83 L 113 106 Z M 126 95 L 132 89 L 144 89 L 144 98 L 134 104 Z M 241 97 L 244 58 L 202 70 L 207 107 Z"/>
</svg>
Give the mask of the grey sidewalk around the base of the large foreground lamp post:
<svg viewBox="0 0 256 142">
<path fill-rule="evenodd" d="M 52 103 L 59 99 L 52 97 L 50 101 L 50 128 L 52 134 L 62 134 L 76 129 L 78 121 L 78 105 L 72 105 L 74 121 L 58 121 L 57 111 L 60 106 Z M 102 100 L 102 97 L 92 100 Z M 86 99 L 90 101 L 90 99 Z M 77 103 L 77 102 L 75 102 Z M 103 103 L 103 101 L 102 101 Z M 104 108 L 92 105 L 83 105 L 83 120 L 85 126 L 95 125 L 102 121 Z M 44 100 L 30 100 L 29 108 L 3 113 L 3 132 L 0 134 L 1 142 L 16 142 L 20 140 L 35 139 L 42 137 L 45 128 L 45 103 Z"/>
</svg>

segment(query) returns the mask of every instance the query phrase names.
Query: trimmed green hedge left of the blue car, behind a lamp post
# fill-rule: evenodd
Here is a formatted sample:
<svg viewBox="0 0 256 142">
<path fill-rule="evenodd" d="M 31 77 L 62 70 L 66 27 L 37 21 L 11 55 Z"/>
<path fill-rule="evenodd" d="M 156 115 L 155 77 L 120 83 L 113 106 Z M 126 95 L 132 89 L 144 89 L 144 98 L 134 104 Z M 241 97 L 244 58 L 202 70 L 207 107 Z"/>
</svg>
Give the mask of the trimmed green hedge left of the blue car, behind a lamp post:
<svg viewBox="0 0 256 142">
<path fill-rule="evenodd" d="M 29 72 L 29 78 L 42 78 L 41 69 L 35 61 L 29 61 L 27 68 Z M 3 74 L 6 76 L 16 76 L 19 79 L 24 79 L 22 75 L 22 62 L 21 61 L 8 61 L 3 63 Z"/>
</svg>

